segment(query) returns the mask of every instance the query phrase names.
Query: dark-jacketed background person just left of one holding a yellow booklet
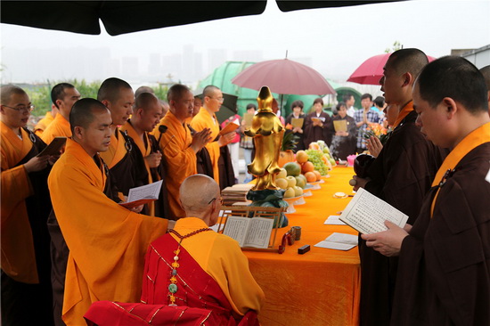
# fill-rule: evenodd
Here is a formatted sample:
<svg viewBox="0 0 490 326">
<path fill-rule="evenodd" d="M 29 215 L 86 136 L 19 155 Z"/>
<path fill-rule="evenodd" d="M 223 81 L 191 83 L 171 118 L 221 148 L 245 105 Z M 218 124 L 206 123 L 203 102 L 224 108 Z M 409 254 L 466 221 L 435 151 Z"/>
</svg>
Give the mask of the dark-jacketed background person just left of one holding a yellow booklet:
<svg viewBox="0 0 490 326">
<path fill-rule="evenodd" d="M 305 147 L 310 143 L 322 140 L 331 145 L 331 117 L 323 112 L 323 99 L 318 97 L 313 102 L 313 112 L 305 119 Z"/>
</svg>

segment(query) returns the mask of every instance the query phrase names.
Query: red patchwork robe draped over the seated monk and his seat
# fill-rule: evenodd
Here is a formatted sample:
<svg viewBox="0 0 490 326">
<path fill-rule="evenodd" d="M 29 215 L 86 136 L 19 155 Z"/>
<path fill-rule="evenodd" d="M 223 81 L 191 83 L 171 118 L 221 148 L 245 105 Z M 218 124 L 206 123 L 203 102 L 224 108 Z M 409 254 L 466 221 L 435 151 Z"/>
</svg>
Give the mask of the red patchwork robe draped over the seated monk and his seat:
<svg viewBox="0 0 490 326">
<path fill-rule="evenodd" d="M 185 240 L 184 240 L 185 242 Z M 177 306 L 167 306 L 168 284 L 178 243 L 165 234 L 151 243 L 145 257 L 141 304 L 111 301 L 94 303 L 85 314 L 92 325 L 210 325 L 233 326 L 233 308 L 218 283 L 206 273 L 192 256 L 180 248 L 177 268 L 177 287 L 174 295 Z M 178 323 L 176 323 L 178 321 Z M 238 325 L 258 325 L 257 314 L 249 311 Z"/>
</svg>

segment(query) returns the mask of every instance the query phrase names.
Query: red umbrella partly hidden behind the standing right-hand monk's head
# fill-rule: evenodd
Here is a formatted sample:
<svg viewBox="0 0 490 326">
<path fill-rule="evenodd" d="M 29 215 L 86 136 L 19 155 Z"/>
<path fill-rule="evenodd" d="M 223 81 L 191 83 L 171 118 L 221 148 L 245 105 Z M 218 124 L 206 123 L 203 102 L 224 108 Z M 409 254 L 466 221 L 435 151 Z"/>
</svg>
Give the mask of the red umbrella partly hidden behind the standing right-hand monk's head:
<svg viewBox="0 0 490 326">
<path fill-rule="evenodd" d="M 378 54 L 366 61 L 355 69 L 354 73 L 348 77 L 347 81 L 357 84 L 380 85 L 380 78 L 383 77 L 383 68 L 388 61 L 391 53 Z M 436 58 L 427 56 L 429 61 L 434 61 Z"/>
</svg>

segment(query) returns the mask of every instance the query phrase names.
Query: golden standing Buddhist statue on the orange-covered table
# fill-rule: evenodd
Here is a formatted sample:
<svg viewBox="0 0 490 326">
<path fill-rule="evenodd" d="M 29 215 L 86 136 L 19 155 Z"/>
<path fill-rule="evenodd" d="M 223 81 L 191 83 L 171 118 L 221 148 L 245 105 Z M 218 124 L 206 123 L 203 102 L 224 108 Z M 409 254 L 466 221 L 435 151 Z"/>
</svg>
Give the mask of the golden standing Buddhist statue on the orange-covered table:
<svg viewBox="0 0 490 326">
<path fill-rule="evenodd" d="M 254 191 L 280 189 L 275 185 L 275 175 L 281 171 L 277 160 L 284 127 L 272 110 L 273 100 L 269 87 L 262 87 L 257 97 L 257 114 L 252 119 L 252 126 L 245 130 L 246 135 L 254 138 L 255 144 L 255 158 L 248 166 L 249 173 L 257 177 Z"/>
</svg>

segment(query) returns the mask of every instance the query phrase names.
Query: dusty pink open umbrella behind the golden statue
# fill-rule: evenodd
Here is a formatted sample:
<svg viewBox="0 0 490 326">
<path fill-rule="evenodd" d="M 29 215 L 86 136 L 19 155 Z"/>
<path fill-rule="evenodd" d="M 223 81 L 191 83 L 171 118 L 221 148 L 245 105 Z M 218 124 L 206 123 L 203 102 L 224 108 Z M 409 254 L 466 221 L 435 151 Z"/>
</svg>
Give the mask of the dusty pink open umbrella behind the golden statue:
<svg viewBox="0 0 490 326">
<path fill-rule="evenodd" d="M 289 59 L 253 64 L 233 77 L 232 83 L 257 91 L 268 86 L 276 94 L 335 94 L 333 87 L 318 71 Z"/>
</svg>

